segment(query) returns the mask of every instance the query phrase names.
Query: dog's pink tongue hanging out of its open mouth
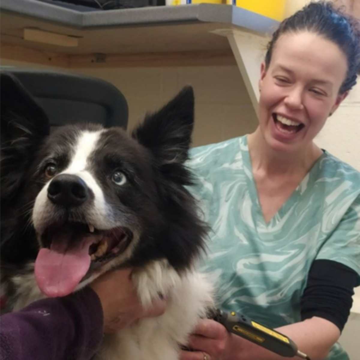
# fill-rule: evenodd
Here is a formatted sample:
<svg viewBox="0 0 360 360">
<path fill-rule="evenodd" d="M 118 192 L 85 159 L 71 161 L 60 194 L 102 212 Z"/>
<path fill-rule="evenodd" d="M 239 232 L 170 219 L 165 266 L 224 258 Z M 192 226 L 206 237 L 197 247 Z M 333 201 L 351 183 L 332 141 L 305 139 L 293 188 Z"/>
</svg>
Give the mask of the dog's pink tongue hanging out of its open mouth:
<svg viewBox="0 0 360 360">
<path fill-rule="evenodd" d="M 89 247 L 94 242 L 84 238 L 68 249 L 66 239 L 57 239 L 50 249 L 42 248 L 35 261 L 35 278 L 40 290 L 49 297 L 70 294 L 90 267 Z M 53 241 L 54 243 L 54 241 Z"/>
</svg>

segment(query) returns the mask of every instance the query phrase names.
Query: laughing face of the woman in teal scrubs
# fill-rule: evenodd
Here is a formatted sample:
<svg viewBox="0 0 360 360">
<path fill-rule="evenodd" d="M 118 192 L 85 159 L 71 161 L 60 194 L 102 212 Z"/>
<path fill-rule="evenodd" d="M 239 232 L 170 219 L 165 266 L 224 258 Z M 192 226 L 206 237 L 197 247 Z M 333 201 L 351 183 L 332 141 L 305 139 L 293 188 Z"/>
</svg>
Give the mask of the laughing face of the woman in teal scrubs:
<svg viewBox="0 0 360 360">
<path fill-rule="evenodd" d="M 311 144 L 346 94 L 339 95 L 347 59 L 332 41 L 312 32 L 279 37 L 269 68 L 261 65 L 259 118 L 265 141 L 277 151 Z"/>
</svg>

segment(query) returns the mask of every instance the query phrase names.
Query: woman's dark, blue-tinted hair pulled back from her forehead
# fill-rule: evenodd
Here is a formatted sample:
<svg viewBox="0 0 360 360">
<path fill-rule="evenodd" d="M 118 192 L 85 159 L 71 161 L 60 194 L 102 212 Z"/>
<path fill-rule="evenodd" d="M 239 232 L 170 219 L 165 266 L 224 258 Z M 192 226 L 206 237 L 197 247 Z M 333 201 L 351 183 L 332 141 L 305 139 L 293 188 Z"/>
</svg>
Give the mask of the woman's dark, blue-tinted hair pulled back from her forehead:
<svg viewBox="0 0 360 360">
<path fill-rule="evenodd" d="M 333 41 L 344 52 L 347 58 L 347 74 L 339 93 L 350 90 L 356 84 L 357 73 L 360 72 L 359 21 L 336 9 L 328 1 L 310 3 L 280 24 L 267 45 L 266 68 L 270 65 L 271 55 L 280 35 L 302 30 L 315 32 Z"/>
</svg>

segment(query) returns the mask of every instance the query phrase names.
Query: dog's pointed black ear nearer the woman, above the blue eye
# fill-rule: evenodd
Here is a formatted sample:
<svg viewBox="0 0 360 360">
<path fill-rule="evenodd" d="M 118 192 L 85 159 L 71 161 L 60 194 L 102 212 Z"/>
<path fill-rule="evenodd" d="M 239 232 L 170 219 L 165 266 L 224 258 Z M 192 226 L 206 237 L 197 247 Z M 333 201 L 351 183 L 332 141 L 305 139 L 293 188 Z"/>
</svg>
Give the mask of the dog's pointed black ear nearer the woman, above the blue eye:
<svg viewBox="0 0 360 360">
<path fill-rule="evenodd" d="M 162 109 L 148 114 L 132 137 L 150 149 L 159 166 L 184 163 L 194 124 L 194 92 L 186 86 Z"/>
</svg>

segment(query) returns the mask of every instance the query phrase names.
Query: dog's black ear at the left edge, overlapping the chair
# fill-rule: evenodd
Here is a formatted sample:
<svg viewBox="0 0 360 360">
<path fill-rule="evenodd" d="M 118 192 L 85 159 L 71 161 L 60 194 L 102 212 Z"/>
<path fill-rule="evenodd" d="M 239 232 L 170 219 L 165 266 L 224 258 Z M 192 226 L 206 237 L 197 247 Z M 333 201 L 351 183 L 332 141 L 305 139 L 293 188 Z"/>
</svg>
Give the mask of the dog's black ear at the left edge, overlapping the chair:
<svg viewBox="0 0 360 360">
<path fill-rule="evenodd" d="M 41 140 L 49 120 L 17 77 L 0 72 L 1 201 L 10 200 Z"/>
</svg>

